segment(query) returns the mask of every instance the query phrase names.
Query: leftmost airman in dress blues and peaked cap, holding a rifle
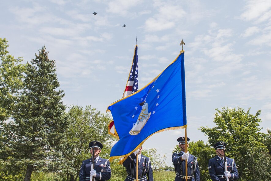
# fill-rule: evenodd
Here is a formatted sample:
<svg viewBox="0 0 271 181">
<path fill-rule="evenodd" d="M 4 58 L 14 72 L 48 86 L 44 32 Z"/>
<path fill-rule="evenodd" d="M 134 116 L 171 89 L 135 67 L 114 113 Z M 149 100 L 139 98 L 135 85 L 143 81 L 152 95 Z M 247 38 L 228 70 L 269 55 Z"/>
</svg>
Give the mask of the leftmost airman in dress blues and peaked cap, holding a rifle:
<svg viewBox="0 0 271 181">
<path fill-rule="evenodd" d="M 94 147 L 94 142 L 95 147 Z M 92 158 L 88 160 L 84 160 L 82 162 L 80 172 L 79 172 L 79 181 L 89 181 L 90 176 L 94 176 L 95 180 L 109 180 L 111 177 L 111 168 L 109 160 L 101 158 L 99 154 L 101 153 L 101 149 L 103 145 L 98 141 L 92 141 L 88 144 L 90 148 L 90 153 L 93 153 L 96 163 L 94 163 L 94 169 L 91 170 Z M 91 180 L 92 181 L 92 180 Z"/>
</svg>

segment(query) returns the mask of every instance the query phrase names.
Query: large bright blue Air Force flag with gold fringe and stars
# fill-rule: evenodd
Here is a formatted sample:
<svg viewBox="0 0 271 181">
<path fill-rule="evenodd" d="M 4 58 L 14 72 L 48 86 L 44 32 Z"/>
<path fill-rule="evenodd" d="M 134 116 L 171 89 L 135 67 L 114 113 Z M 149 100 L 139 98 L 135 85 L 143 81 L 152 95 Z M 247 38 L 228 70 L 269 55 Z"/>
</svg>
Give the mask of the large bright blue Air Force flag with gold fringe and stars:
<svg viewBox="0 0 271 181">
<path fill-rule="evenodd" d="M 148 85 L 108 106 L 119 141 L 110 159 L 130 155 L 152 134 L 186 127 L 183 53 Z"/>
</svg>

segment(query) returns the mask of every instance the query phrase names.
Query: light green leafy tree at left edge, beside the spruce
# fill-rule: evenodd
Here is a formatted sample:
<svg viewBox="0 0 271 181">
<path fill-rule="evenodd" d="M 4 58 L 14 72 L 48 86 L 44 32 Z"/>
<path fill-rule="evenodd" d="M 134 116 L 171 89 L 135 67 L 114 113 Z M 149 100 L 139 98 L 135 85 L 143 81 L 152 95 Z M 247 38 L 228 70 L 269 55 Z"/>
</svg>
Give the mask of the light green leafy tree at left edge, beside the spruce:
<svg viewBox="0 0 271 181">
<path fill-rule="evenodd" d="M 21 64 L 22 58 L 15 59 L 9 55 L 7 43 L 5 38 L 0 38 L 0 180 L 14 180 L 20 175 L 11 174 L 14 170 L 7 169 L 6 160 L 9 157 L 9 142 L 13 135 L 9 129 L 9 119 L 12 118 L 14 104 L 19 101 L 25 67 Z"/>
</svg>

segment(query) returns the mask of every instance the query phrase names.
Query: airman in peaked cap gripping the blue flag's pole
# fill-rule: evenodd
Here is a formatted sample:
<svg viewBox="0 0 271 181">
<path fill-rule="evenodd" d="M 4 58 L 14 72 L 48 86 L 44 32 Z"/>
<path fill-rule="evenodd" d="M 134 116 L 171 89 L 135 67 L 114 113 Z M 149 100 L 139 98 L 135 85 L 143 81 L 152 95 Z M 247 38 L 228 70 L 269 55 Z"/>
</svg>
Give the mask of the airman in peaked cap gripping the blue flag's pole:
<svg viewBox="0 0 271 181">
<path fill-rule="evenodd" d="M 187 147 L 189 146 L 190 139 L 187 138 Z M 185 153 L 185 137 L 177 139 L 179 142 L 180 153 L 173 153 L 172 162 L 175 167 L 176 177 L 175 181 L 185 181 L 185 160 L 187 160 L 187 175 L 188 181 L 200 181 L 200 172 L 198 167 L 198 158 L 189 152 Z"/>
</svg>

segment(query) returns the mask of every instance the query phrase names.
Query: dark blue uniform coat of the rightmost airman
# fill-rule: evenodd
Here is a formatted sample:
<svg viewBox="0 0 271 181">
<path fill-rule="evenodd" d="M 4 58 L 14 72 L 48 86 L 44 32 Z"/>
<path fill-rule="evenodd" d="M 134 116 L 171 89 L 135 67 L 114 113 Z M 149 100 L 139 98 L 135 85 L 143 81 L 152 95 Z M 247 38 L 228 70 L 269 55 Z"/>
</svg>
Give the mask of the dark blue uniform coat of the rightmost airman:
<svg viewBox="0 0 271 181">
<path fill-rule="evenodd" d="M 237 180 L 239 178 L 238 170 L 236 168 L 236 164 L 234 159 L 228 158 L 227 160 L 227 169 L 231 173 L 231 177 L 229 180 Z M 225 181 L 224 176 L 224 163 L 221 162 L 221 158 L 219 156 L 215 156 L 209 160 L 209 174 L 213 181 Z"/>
</svg>

